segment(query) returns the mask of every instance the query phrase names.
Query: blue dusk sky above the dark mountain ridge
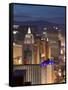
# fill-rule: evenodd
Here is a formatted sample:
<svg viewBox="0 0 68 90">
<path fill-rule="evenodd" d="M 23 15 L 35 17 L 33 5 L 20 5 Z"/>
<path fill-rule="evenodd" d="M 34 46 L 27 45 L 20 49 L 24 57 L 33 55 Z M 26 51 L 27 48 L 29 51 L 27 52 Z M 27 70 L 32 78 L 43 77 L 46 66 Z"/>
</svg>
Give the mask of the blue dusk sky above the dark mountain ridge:
<svg viewBox="0 0 68 90">
<path fill-rule="evenodd" d="M 14 21 L 27 22 L 44 20 L 52 23 L 65 23 L 65 7 L 32 6 L 14 4 Z"/>
</svg>

